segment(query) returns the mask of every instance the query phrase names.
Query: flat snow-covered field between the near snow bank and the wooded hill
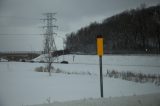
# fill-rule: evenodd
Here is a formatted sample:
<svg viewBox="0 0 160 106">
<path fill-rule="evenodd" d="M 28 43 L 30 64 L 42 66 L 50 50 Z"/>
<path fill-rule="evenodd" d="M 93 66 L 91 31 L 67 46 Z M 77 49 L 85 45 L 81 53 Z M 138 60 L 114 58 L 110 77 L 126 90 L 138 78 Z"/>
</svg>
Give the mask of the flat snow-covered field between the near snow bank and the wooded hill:
<svg viewBox="0 0 160 106">
<path fill-rule="evenodd" d="M 95 55 L 66 55 L 53 63 L 57 70 L 79 73 L 36 72 L 44 63 L 0 62 L 0 101 L 6 106 L 47 104 L 71 100 L 99 98 L 99 58 Z M 43 60 L 40 56 L 35 61 Z M 103 73 L 107 70 L 160 74 L 160 56 L 103 56 Z M 86 74 L 91 73 L 91 75 Z M 152 83 L 135 83 L 104 77 L 104 97 L 121 97 L 160 93 Z"/>
</svg>

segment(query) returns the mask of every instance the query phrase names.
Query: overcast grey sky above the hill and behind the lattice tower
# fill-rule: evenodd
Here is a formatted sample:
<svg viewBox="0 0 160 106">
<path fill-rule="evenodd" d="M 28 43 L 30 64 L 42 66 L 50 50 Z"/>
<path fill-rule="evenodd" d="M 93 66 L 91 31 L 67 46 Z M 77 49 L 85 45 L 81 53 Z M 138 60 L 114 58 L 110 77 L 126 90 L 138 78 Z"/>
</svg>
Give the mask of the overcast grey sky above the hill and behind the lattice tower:
<svg viewBox="0 0 160 106">
<path fill-rule="evenodd" d="M 58 49 L 63 48 L 67 33 L 77 31 L 91 22 L 140 4 L 159 4 L 159 0 L 0 0 L 0 51 L 43 49 L 43 13 L 56 12 L 59 26 L 55 37 Z M 16 35 L 18 34 L 18 35 Z M 22 35 L 21 35 L 22 34 Z M 29 35 L 27 35 L 29 34 Z"/>
</svg>

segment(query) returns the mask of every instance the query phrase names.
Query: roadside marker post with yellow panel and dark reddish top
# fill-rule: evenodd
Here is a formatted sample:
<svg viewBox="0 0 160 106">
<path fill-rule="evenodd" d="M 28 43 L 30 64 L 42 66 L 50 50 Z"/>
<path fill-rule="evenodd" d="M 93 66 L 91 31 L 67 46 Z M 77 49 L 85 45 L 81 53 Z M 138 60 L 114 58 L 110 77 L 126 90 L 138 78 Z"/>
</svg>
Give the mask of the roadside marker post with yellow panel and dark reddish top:
<svg viewBox="0 0 160 106">
<path fill-rule="evenodd" d="M 103 37 L 97 36 L 97 55 L 99 55 L 99 66 L 100 66 L 100 93 L 103 98 L 103 73 L 102 73 L 102 55 L 103 55 Z"/>
</svg>

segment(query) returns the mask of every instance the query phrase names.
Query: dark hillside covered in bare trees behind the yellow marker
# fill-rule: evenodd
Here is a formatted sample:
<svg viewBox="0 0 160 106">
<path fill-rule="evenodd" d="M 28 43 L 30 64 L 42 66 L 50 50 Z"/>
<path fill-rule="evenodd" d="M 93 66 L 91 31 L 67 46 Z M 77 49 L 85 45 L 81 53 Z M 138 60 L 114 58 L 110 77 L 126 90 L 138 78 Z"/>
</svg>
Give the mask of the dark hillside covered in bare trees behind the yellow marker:
<svg viewBox="0 0 160 106">
<path fill-rule="evenodd" d="M 160 53 L 160 5 L 126 10 L 67 34 L 72 52 L 96 53 L 96 36 L 103 35 L 105 53 Z"/>
</svg>

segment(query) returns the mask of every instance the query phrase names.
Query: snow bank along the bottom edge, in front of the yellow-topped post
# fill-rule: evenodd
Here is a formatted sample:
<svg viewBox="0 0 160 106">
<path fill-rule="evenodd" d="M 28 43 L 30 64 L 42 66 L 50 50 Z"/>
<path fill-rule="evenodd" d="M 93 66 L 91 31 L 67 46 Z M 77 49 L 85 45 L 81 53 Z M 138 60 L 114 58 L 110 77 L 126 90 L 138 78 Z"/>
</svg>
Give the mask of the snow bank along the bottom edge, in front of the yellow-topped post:
<svg viewBox="0 0 160 106">
<path fill-rule="evenodd" d="M 160 106 L 160 93 L 141 96 L 83 99 L 69 102 L 54 102 L 32 106 Z"/>
</svg>

